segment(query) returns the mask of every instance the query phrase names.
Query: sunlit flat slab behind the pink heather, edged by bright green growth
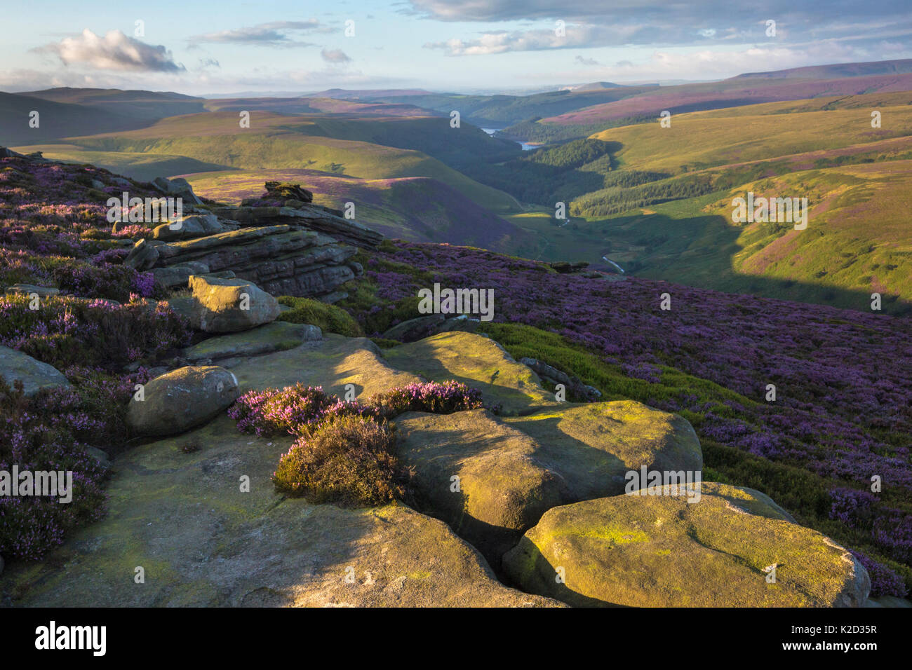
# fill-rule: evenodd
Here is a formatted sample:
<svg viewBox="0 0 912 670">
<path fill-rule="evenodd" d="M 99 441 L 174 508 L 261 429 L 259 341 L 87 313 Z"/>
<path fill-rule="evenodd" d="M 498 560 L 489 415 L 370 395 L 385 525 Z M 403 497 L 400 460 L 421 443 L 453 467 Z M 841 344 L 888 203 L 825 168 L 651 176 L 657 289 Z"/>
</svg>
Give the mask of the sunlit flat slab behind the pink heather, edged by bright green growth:
<svg viewBox="0 0 912 670">
<path fill-rule="evenodd" d="M 517 363 L 491 338 L 472 333 L 441 333 L 384 351 L 391 366 L 429 381 L 455 379 L 482 391 L 486 404 L 499 403 L 503 415 L 527 414 L 556 406 L 554 394 L 527 366 Z"/>
</svg>

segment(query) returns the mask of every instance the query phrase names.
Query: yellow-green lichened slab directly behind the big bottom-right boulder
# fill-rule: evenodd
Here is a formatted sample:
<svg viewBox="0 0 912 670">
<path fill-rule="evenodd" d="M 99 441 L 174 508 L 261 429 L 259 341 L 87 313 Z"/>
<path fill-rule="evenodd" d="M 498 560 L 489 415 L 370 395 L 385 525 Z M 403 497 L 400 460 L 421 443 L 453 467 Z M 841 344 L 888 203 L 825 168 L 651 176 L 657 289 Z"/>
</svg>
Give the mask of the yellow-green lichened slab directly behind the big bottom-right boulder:
<svg viewBox="0 0 912 670">
<path fill-rule="evenodd" d="M 623 493 L 631 470 L 703 469 L 700 439 L 687 419 L 633 400 L 562 403 L 503 422 L 535 439 L 535 459 L 560 473 L 573 500 Z"/>
</svg>

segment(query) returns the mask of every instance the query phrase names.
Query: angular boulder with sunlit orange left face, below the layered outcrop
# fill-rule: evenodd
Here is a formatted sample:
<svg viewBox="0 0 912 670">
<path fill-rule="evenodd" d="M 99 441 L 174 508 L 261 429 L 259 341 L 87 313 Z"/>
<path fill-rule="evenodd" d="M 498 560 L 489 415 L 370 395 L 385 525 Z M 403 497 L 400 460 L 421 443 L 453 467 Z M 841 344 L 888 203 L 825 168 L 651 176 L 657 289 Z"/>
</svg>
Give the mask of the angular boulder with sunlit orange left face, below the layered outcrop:
<svg viewBox="0 0 912 670">
<path fill-rule="evenodd" d="M 249 330 L 280 314 L 275 298 L 253 282 L 193 275 L 189 285 L 196 301 L 192 326 L 206 333 Z"/>
</svg>

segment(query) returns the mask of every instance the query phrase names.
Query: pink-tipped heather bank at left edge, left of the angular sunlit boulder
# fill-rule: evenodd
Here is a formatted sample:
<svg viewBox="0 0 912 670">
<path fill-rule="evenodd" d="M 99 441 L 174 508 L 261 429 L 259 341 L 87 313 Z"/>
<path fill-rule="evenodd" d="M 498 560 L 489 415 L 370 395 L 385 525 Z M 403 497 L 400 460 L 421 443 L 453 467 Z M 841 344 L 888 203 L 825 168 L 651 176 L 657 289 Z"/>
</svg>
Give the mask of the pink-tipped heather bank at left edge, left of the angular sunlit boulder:
<svg viewBox="0 0 912 670">
<path fill-rule="evenodd" d="M 52 366 L 117 366 L 189 344 L 185 320 L 167 304 L 52 296 L 31 309 L 26 295 L 0 297 L 0 345 Z"/>
</svg>

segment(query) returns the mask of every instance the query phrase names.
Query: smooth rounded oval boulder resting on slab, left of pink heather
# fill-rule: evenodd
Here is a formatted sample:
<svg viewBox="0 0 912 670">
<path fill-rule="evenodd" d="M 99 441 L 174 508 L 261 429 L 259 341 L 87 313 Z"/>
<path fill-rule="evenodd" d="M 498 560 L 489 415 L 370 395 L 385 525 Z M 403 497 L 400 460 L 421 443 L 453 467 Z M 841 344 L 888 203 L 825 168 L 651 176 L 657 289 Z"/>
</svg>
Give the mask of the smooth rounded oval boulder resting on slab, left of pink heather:
<svg viewBox="0 0 912 670">
<path fill-rule="evenodd" d="M 172 435 L 216 417 L 240 395 L 237 377 L 218 366 L 186 366 L 157 376 L 134 394 L 127 425 L 138 435 Z"/>
</svg>

